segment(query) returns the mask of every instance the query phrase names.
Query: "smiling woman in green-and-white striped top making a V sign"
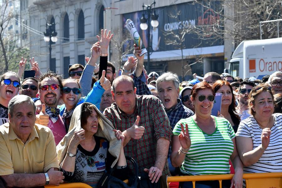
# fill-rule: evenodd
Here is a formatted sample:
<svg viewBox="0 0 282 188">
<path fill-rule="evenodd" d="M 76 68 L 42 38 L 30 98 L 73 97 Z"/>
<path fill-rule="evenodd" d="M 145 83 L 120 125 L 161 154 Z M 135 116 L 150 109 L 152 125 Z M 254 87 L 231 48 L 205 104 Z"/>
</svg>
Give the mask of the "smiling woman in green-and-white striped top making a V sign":
<svg viewBox="0 0 282 188">
<path fill-rule="evenodd" d="M 173 129 L 171 163 L 180 166 L 181 175 L 229 174 L 229 159 L 235 175 L 223 180 L 222 187 L 242 187 L 243 165 L 236 149 L 235 133 L 225 118 L 211 115 L 215 92 L 206 82 L 197 83 L 191 91 L 195 115 L 181 119 Z M 193 187 L 180 182 L 180 187 Z M 197 181 L 196 188 L 219 187 L 218 181 Z"/>
</svg>

